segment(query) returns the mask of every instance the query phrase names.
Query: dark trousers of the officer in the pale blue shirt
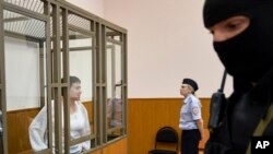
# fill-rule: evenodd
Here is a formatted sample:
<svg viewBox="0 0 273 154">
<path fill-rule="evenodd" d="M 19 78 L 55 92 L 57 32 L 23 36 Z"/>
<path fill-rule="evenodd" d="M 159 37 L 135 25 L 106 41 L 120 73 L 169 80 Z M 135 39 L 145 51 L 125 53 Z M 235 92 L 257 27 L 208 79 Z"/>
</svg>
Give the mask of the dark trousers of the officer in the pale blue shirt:
<svg viewBox="0 0 273 154">
<path fill-rule="evenodd" d="M 201 134 L 198 129 L 182 130 L 181 154 L 198 154 L 198 146 L 200 140 Z"/>
</svg>

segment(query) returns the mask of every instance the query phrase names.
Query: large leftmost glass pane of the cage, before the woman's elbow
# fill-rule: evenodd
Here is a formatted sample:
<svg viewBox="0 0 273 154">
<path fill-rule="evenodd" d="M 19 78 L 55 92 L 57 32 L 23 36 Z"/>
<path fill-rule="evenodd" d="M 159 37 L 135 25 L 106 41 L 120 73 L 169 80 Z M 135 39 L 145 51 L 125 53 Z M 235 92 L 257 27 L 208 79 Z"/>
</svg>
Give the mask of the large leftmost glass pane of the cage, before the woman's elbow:
<svg viewBox="0 0 273 154">
<path fill-rule="evenodd" d="M 9 153 L 48 149 L 47 109 L 43 108 L 47 104 L 46 24 L 8 10 L 3 19 Z M 38 111 L 41 117 L 34 120 Z"/>
</svg>

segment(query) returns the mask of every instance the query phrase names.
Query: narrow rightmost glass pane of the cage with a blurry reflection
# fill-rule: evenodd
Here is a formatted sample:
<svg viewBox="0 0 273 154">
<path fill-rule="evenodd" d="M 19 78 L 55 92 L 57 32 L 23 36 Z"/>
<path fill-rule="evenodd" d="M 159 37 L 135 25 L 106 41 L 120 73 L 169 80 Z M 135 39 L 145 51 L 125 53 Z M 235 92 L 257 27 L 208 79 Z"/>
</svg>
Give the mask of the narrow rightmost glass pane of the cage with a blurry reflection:
<svg viewBox="0 0 273 154">
<path fill-rule="evenodd" d="M 107 43 L 106 74 L 107 74 L 107 103 L 106 103 L 106 132 L 107 141 L 123 135 L 124 100 L 122 100 L 121 76 L 121 46 Z"/>
</svg>

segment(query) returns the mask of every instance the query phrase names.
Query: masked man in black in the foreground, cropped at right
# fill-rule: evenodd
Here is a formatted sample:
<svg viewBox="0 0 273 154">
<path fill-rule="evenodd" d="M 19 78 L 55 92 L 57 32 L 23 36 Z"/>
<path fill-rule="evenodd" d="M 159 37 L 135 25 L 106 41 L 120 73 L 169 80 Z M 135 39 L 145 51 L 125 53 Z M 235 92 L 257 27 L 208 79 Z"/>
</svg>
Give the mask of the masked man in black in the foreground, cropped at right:
<svg viewBox="0 0 273 154">
<path fill-rule="evenodd" d="M 203 20 L 234 78 L 205 154 L 250 154 L 252 135 L 273 135 L 273 0 L 205 0 Z"/>
</svg>

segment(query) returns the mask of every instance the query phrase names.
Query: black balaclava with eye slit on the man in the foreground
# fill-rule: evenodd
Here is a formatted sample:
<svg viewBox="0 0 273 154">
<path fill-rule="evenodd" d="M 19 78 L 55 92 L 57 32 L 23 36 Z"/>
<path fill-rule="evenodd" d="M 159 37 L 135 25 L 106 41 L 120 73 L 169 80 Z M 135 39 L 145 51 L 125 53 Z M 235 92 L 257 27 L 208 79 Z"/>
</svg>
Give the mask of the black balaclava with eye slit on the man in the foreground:
<svg viewBox="0 0 273 154">
<path fill-rule="evenodd" d="M 205 0 L 205 27 L 236 15 L 249 17 L 249 26 L 213 46 L 229 74 L 258 82 L 273 66 L 273 0 Z"/>
</svg>

